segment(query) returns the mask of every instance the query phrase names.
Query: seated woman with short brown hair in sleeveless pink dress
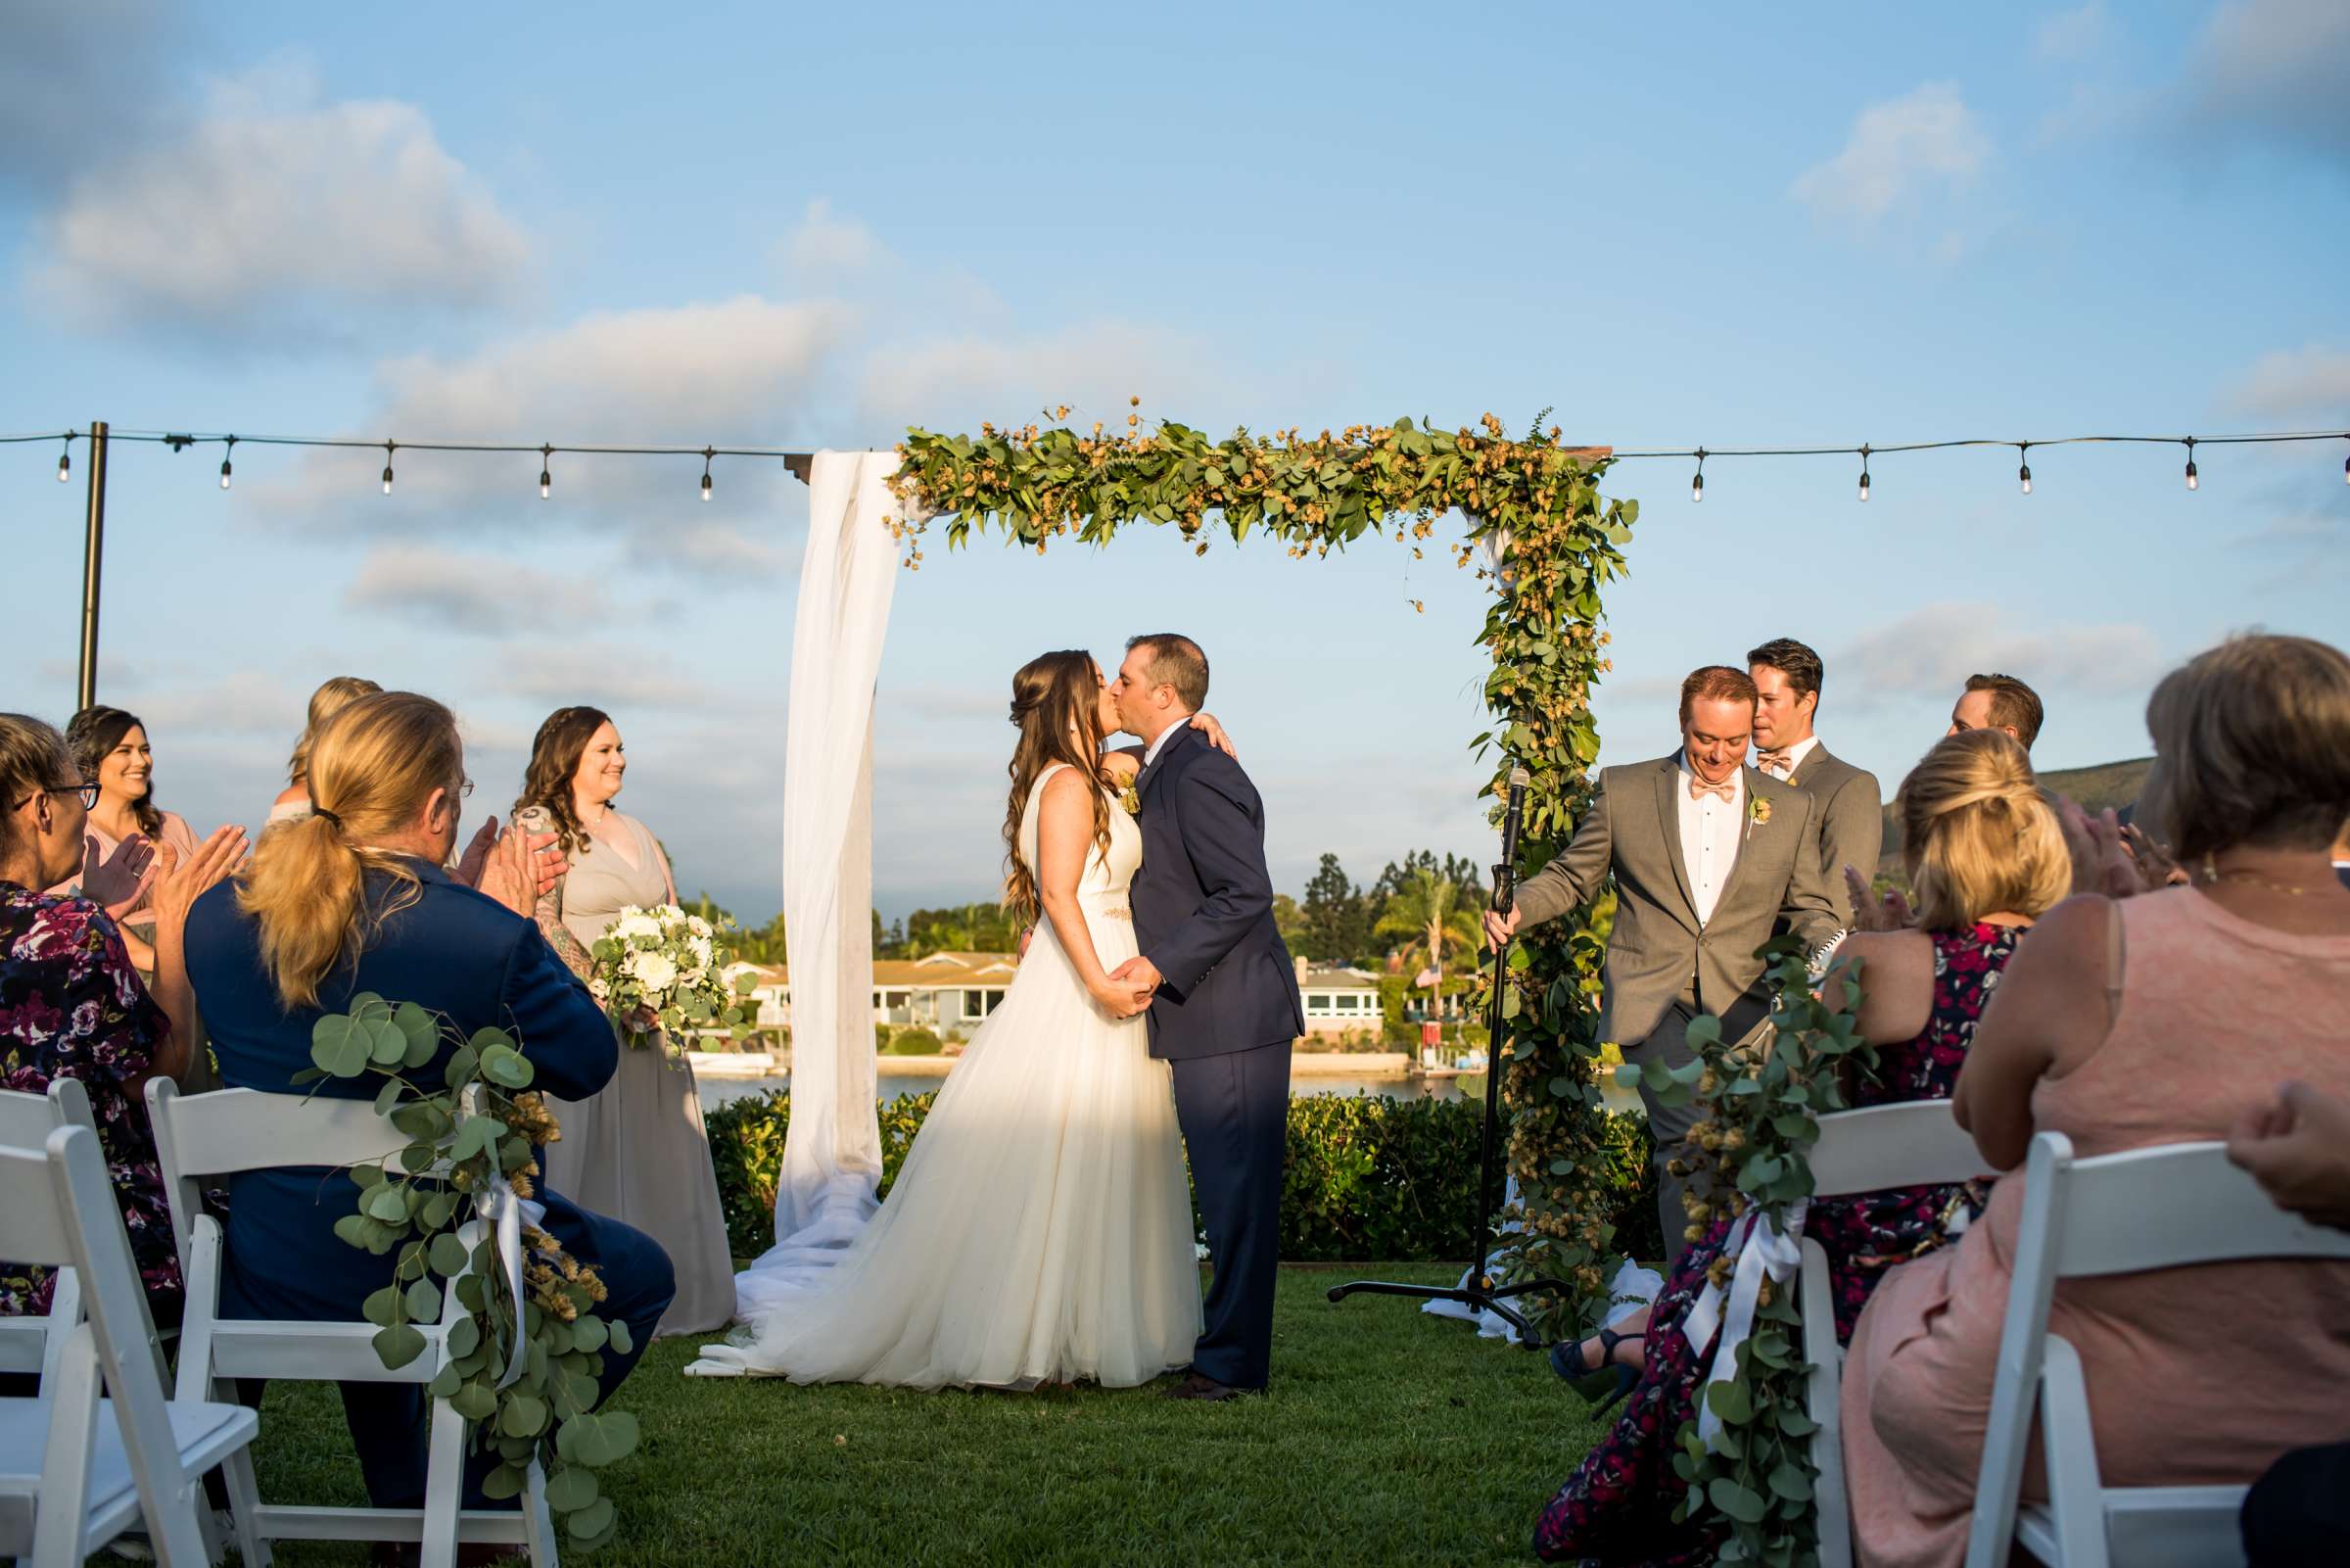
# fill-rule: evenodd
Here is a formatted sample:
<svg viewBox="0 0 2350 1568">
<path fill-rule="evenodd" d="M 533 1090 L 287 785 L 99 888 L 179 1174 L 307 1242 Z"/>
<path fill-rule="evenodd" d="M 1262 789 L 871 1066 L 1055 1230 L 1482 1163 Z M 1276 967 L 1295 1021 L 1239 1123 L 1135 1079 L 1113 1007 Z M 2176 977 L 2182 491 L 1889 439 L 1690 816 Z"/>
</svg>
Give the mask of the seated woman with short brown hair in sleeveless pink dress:
<svg viewBox="0 0 2350 1568">
<path fill-rule="evenodd" d="M 2113 820 L 2073 813 L 2099 891 L 2016 952 L 1958 1077 L 1958 1119 L 2007 1175 L 1983 1222 L 1894 1269 L 1852 1335 L 1845 1472 L 1873 1568 L 1965 1559 L 2033 1133 L 2113 1154 L 2225 1138 L 2280 1079 L 2350 1093 L 2350 889 L 2326 860 L 2350 818 L 2350 658 L 2240 637 L 2169 675 L 2146 724 L 2141 811 L 2190 884 L 2141 891 Z M 2341 1439 L 2350 1265 L 2068 1281 L 2049 1333 L 2082 1354 L 2108 1483 L 2244 1483 Z M 2037 1458 L 2023 1486 L 2047 1495 Z"/>
</svg>

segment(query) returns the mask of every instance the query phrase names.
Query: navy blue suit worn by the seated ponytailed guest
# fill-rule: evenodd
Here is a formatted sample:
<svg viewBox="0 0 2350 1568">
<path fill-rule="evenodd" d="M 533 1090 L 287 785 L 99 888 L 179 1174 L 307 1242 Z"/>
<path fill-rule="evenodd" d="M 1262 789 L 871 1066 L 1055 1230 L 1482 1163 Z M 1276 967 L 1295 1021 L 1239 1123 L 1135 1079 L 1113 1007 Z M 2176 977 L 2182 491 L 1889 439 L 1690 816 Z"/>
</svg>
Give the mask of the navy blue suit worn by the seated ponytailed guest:
<svg viewBox="0 0 2350 1568">
<path fill-rule="evenodd" d="M 444 1013 L 463 1034 L 498 1025 L 515 1034 L 536 1070 L 533 1088 L 585 1100 L 618 1065 L 618 1041 L 604 1009 L 564 969 L 538 926 L 425 860 L 409 863 L 421 898 L 369 933 L 357 964 L 338 964 L 320 985 L 320 1006 L 287 1013 L 261 964 L 261 929 L 237 910 L 235 886 L 221 884 L 188 912 L 188 978 L 212 1030 L 221 1081 L 230 1088 L 306 1093 L 294 1074 L 310 1063 L 310 1025 L 350 1006 L 357 992 L 414 1001 Z M 383 900 L 392 877 L 369 875 L 369 898 Z M 364 922 L 362 922 L 364 924 Z M 409 1077 L 442 1084 L 444 1060 Z M 324 1079 L 308 1093 L 371 1100 L 374 1074 Z M 642 1173 L 658 1180 L 658 1173 Z M 228 1187 L 228 1248 L 221 1314 L 247 1319 L 360 1319 L 360 1302 L 392 1284 L 397 1253 L 383 1258 L 348 1246 L 334 1222 L 357 1201 L 357 1185 L 327 1168 L 247 1171 Z M 653 1340 L 677 1284 L 670 1255 L 651 1237 L 585 1213 L 538 1187 L 543 1229 L 583 1265 L 595 1265 L 609 1298 L 604 1316 L 627 1324 L 630 1354 L 604 1349 L 609 1394 Z M 425 1495 L 425 1401 L 416 1385 L 345 1382 L 343 1415 L 376 1507 L 421 1507 Z M 468 1467 L 468 1507 L 486 1465 Z M 512 1505 L 508 1505 L 512 1507 Z"/>
</svg>

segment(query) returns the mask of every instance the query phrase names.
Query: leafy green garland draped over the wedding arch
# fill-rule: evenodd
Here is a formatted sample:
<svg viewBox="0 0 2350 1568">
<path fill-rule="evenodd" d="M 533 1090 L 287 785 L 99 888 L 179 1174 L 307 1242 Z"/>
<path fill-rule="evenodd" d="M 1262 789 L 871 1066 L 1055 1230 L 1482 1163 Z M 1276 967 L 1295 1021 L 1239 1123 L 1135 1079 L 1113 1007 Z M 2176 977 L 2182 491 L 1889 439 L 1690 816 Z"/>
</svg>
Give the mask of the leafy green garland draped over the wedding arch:
<svg viewBox="0 0 2350 1568">
<path fill-rule="evenodd" d="M 1053 538 L 1097 545 L 1126 524 L 1154 522 L 1182 531 L 1198 552 L 1213 527 L 1234 541 L 1271 534 L 1290 557 L 1321 557 L 1391 529 L 1394 543 L 1419 557 L 1438 520 L 1459 512 L 1469 531 L 1445 548 L 1466 569 L 1485 545 L 1499 585 L 1478 632 L 1495 665 L 1485 682 L 1495 729 L 1473 741 L 1495 759 L 1485 792 L 1502 797 L 1513 762 L 1532 771 L 1520 877 L 1565 846 L 1598 762 L 1591 686 L 1607 670 L 1600 588 L 1624 574 L 1622 548 L 1640 510 L 1600 496 L 1605 451 L 1563 447 L 1539 416 L 1516 440 L 1492 414 L 1476 430 L 1398 418 L 1337 435 L 1236 430 L 1210 440 L 1177 423 L 1142 430 L 1133 411 L 1121 433 L 1104 435 L 1100 423 L 1083 433 L 1060 423 L 1067 414 L 1053 409 L 1043 423 L 1008 430 L 982 425 L 980 435 L 909 430 L 893 480 L 909 510 L 907 564 L 921 564 L 924 515 L 945 515 L 954 545 L 992 527 L 1041 552 Z M 1574 1300 L 1523 1305 L 1551 1335 L 1582 1333 L 1607 1302 L 1614 1262 L 1596 1034 L 1605 940 L 1589 912 L 1530 938 L 1504 997 L 1513 1034 L 1499 1067 L 1520 1204 L 1520 1227 L 1509 1234 L 1518 1255 L 1504 1274 L 1567 1281 Z"/>
</svg>

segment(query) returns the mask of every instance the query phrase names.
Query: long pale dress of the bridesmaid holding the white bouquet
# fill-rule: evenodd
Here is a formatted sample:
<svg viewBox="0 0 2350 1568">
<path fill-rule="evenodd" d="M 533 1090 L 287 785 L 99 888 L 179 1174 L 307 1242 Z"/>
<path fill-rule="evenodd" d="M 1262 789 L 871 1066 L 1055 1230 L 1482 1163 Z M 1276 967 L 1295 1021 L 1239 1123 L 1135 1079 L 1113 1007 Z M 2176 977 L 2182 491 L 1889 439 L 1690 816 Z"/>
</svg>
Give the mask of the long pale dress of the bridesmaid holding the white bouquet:
<svg viewBox="0 0 2350 1568">
<path fill-rule="evenodd" d="M 592 945 L 623 905 L 670 903 L 660 846 L 620 811 L 637 865 L 595 839 L 571 856 L 562 922 Z M 529 1041 L 524 1041 L 529 1046 Z M 620 1070 L 588 1100 L 548 1095 L 564 1135 L 548 1147 L 548 1185 L 590 1213 L 634 1225 L 670 1253 L 677 1300 L 656 1335 L 712 1333 L 733 1321 L 733 1255 L 703 1131 L 703 1098 L 691 1063 L 667 1051 L 620 1046 Z"/>
</svg>

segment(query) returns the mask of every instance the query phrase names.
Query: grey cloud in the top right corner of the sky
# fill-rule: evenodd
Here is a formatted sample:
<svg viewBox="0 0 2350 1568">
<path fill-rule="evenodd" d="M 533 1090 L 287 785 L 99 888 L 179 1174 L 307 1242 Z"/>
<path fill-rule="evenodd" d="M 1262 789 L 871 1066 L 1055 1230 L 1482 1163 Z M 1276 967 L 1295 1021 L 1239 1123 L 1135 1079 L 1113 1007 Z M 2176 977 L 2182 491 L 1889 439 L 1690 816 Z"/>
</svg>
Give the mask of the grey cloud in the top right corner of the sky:
<svg viewBox="0 0 2350 1568">
<path fill-rule="evenodd" d="M 2350 162 L 2350 5 L 2232 0 L 2188 52 L 2186 129 Z"/>
</svg>

